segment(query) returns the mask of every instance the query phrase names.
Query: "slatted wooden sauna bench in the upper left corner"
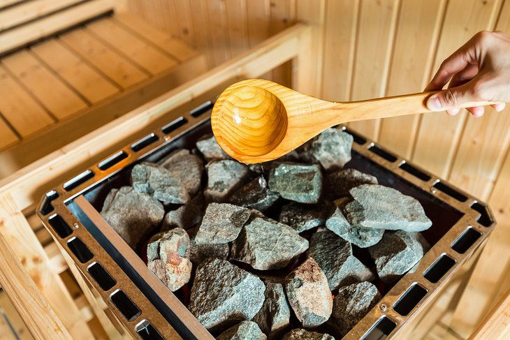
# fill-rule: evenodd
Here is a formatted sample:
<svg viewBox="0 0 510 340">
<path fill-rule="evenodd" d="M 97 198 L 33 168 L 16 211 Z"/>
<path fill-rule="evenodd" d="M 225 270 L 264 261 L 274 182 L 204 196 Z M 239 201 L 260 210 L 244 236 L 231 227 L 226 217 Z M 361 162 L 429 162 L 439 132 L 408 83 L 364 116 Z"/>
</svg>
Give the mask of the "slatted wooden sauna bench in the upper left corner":
<svg viewBox="0 0 510 340">
<path fill-rule="evenodd" d="M 206 70 L 112 0 L 0 0 L 0 178 Z"/>
</svg>

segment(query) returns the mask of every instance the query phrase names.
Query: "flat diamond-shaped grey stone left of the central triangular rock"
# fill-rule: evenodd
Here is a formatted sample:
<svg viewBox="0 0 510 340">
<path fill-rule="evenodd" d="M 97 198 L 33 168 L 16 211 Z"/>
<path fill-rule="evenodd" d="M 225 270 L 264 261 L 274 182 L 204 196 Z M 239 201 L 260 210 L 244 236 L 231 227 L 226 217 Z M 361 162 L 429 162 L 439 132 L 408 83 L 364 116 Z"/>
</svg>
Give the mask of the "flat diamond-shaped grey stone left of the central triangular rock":
<svg viewBox="0 0 510 340">
<path fill-rule="evenodd" d="M 196 244 L 223 244 L 236 239 L 252 214 L 250 209 L 228 203 L 210 203 L 195 236 Z"/>
</svg>

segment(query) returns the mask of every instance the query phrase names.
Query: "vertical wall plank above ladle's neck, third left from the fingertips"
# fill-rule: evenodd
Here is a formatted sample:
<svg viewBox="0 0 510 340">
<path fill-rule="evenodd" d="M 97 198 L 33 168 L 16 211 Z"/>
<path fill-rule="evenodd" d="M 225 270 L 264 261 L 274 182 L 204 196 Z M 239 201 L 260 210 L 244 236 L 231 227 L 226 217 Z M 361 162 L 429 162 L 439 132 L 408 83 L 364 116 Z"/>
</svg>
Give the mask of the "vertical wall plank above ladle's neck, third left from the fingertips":
<svg viewBox="0 0 510 340">
<path fill-rule="evenodd" d="M 322 98 L 349 101 L 359 0 L 328 0 L 324 32 Z"/>
</svg>

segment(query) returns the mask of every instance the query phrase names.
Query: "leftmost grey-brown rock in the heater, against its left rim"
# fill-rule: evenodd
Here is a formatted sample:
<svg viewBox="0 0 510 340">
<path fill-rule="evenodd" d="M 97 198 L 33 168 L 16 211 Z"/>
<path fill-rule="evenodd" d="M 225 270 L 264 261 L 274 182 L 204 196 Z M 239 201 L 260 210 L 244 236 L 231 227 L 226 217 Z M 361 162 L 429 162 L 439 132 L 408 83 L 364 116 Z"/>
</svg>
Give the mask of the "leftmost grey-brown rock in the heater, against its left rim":
<svg viewBox="0 0 510 340">
<path fill-rule="evenodd" d="M 152 234 L 163 219 L 161 202 L 131 186 L 112 189 L 105 198 L 101 216 L 131 248 Z"/>
</svg>

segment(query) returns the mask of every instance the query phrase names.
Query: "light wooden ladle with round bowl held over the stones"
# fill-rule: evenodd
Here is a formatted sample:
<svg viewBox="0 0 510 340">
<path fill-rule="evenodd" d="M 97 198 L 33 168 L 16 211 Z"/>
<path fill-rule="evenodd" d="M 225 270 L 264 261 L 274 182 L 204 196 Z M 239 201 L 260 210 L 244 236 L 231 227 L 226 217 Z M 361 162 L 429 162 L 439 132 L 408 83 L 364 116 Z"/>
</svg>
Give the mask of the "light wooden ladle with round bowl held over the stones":
<svg viewBox="0 0 510 340">
<path fill-rule="evenodd" d="M 228 155 L 242 163 L 262 163 L 337 124 L 431 112 L 425 101 L 434 93 L 333 103 L 269 80 L 242 80 L 225 89 L 214 104 L 212 132 Z M 494 103 L 465 103 L 462 108 L 490 104 Z"/>
</svg>

